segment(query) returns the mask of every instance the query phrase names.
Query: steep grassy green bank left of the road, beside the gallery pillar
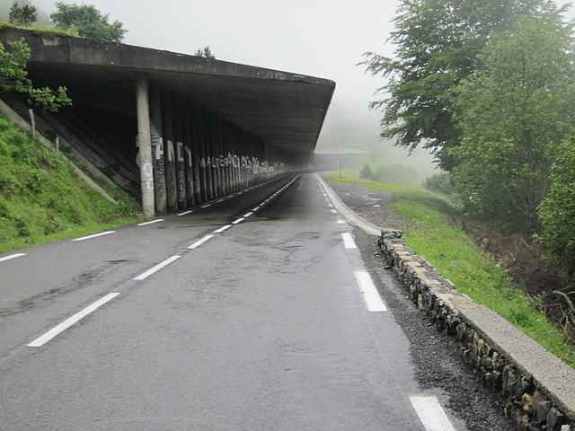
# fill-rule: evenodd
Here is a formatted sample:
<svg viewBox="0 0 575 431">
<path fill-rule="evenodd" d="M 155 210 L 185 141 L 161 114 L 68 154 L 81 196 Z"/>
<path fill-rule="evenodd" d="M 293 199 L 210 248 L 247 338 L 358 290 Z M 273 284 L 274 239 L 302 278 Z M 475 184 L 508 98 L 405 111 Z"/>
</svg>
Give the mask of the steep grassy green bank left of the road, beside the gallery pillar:
<svg viewBox="0 0 575 431">
<path fill-rule="evenodd" d="M 66 162 L 0 116 L 0 252 L 133 223 L 137 203 L 78 179 Z"/>
</svg>

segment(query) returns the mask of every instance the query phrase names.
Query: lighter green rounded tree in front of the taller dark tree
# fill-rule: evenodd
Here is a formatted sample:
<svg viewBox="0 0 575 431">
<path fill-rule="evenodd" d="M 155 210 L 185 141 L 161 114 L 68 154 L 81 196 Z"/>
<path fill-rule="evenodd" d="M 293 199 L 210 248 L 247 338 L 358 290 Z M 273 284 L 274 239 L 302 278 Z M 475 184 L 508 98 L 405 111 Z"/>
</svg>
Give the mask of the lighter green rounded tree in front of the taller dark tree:
<svg viewBox="0 0 575 431">
<path fill-rule="evenodd" d="M 453 93 L 461 131 L 453 180 L 464 207 L 517 232 L 537 230 L 536 208 L 547 193 L 548 147 L 575 120 L 571 31 L 522 19 L 493 35 L 478 56 L 481 70 Z"/>
</svg>

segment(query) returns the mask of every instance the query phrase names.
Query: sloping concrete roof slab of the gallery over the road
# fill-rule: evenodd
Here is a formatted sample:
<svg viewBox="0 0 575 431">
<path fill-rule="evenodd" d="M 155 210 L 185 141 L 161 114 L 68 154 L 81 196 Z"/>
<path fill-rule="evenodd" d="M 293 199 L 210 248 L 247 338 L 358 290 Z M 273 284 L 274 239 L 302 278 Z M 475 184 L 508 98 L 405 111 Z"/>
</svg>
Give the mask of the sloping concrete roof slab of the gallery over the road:
<svg viewBox="0 0 575 431">
<path fill-rule="evenodd" d="M 0 42 L 24 38 L 28 70 L 42 84 L 132 109 L 136 75 L 146 75 L 283 150 L 311 154 L 335 83 L 329 79 L 195 57 L 154 48 L 5 28 Z M 104 96 L 102 96 L 102 94 Z"/>
</svg>

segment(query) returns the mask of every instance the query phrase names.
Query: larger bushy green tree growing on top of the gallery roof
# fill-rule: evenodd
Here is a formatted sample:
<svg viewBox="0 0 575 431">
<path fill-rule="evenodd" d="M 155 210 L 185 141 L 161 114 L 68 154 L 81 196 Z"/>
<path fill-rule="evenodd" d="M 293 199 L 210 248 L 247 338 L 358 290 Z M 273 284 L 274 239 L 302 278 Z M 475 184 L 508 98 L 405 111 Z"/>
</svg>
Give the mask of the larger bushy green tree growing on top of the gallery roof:
<svg viewBox="0 0 575 431">
<path fill-rule="evenodd" d="M 93 4 L 64 4 L 56 3 L 57 12 L 50 14 L 50 18 L 61 30 L 72 28 L 83 38 L 94 40 L 107 40 L 121 42 L 126 30 L 119 21 L 108 22 L 108 14 L 102 13 Z"/>
</svg>

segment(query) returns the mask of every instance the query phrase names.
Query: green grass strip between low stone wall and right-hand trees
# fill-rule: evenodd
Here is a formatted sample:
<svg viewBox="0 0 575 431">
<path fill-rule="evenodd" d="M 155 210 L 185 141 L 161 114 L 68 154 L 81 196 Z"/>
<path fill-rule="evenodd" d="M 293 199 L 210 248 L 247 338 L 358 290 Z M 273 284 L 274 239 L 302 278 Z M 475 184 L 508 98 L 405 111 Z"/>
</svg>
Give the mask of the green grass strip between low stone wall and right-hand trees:
<svg viewBox="0 0 575 431">
<path fill-rule="evenodd" d="M 359 180 L 356 171 L 343 172 L 342 177 L 332 173 L 328 177 L 390 191 L 394 211 L 407 222 L 402 226 L 403 240 L 412 251 L 428 259 L 453 281 L 457 291 L 497 312 L 575 367 L 575 347 L 565 341 L 564 332 L 547 321 L 526 293 L 513 285 L 501 262 L 480 251 L 460 228 L 450 223 L 455 209 L 447 198 L 420 187 Z"/>
</svg>

